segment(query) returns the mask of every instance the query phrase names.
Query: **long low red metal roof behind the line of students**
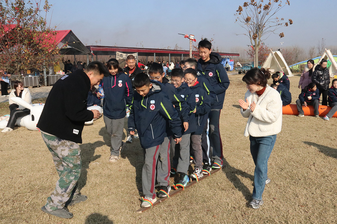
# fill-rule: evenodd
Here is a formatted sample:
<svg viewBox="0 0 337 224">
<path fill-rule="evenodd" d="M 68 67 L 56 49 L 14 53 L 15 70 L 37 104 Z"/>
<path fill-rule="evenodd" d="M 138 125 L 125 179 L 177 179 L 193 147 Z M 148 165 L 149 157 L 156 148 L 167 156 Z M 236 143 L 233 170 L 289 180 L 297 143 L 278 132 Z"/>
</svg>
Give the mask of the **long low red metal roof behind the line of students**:
<svg viewBox="0 0 337 224">
<path fill-rule="evenodd" d="M 189 54 L 187 50 L 170 50 L 170 49 L 154 49 L 154 48 L 132 48 L 132 47 L 115 47 L 115 46 L 86 46 L 90 51 L 110 51 L 110 52 L 138 52 L 138 53 L 164 53 L 164 54 Z M 240 56 L 238 53 L 222 53 L 221 56 Z"/>
</svg>

